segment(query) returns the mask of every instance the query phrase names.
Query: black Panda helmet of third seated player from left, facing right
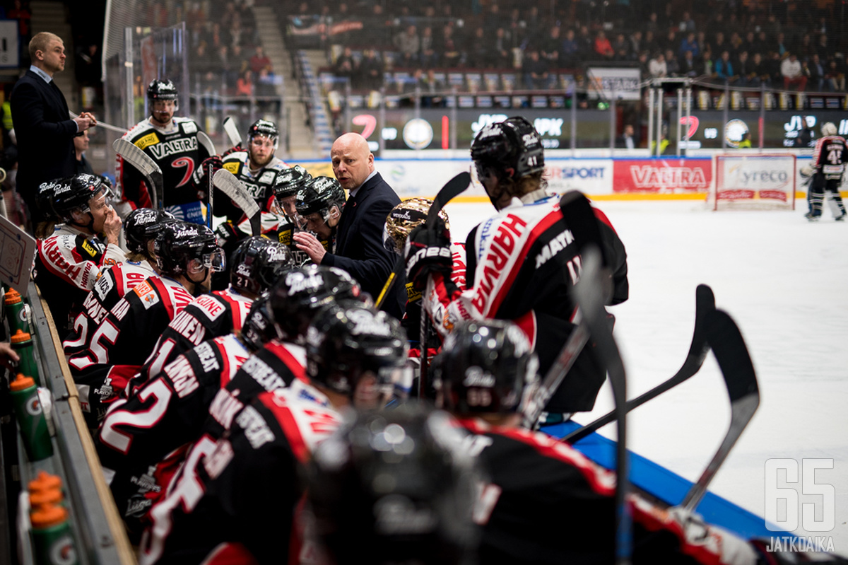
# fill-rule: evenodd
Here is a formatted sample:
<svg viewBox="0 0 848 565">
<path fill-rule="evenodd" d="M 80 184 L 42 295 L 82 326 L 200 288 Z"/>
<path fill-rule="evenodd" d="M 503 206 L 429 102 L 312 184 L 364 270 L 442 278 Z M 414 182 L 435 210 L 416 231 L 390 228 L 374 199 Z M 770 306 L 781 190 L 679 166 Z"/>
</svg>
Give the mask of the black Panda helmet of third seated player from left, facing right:
<svg viewBox="0 0 848 565">
<path fill-rule="evenodd" d="M 215 233 L 209 227 L 187 221 L 165 223 L 153 240 L 153 250 L 159 271 L 164 275 L 187 273 L 192 260 L 198 260 L 201 267 L 212 271 L 222 271 L 226 266 Z"/>
</svg>

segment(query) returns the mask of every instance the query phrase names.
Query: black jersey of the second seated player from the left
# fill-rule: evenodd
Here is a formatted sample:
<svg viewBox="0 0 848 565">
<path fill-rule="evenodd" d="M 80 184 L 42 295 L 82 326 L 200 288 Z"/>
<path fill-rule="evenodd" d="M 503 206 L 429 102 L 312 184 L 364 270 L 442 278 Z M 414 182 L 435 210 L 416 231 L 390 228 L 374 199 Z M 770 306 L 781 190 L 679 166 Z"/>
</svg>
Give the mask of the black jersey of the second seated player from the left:
<svg viewBox="0 0 848 565">
<path fill-rule="evenodd" d="M 157 274 L 146 260 L 124 261 L 103 271 L 83 301 L 82 311 L 74 320 L 74 329 L 62 342 L 64 355 L 70 357 L 87 350 L 91 345 L 92 333 L 103 322 L 109 310 L 124 298 L 124 294 L 148 277 L 157 277 Z"/>
</svg>

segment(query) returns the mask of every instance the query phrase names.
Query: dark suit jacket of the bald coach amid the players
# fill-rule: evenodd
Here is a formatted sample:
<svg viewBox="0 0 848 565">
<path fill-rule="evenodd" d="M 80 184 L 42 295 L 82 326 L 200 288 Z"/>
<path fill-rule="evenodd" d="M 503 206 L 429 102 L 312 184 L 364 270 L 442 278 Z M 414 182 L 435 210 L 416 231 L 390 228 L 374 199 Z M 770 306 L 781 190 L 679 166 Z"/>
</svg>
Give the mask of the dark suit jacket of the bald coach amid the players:
<svg viewBox="0 0 848 565">
<path fill-rule="evenodd" d="M 382 230 L 388 213 L 400 204 L 398 195 L 380 173 L 365 181 L 356 196 L 344 204 L 336 230 L 336 253 L 327 254 L 321 265 L 337 266 L 350 273 L 366 293 L 377 300 L 394 267 L 397 255 L 383 245 Z M 392 289 L 382 310 L 400 319 L 406 305 L 403 280 Z"/>
</svg>

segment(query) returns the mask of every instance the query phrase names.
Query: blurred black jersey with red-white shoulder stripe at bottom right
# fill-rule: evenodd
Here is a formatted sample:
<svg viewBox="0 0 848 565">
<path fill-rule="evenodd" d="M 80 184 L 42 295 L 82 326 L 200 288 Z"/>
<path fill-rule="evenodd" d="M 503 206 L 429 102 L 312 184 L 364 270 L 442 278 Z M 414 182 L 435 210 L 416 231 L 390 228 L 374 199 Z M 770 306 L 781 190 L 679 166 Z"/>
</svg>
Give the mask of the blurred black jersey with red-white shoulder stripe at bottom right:
<svg viewBox="0 0 848 565">
<path fill-rule="evenodd" d="M 615 562 L 615 473 L 547 434 L 466 419 L 469 452 L 489 473 L 475 510 L 479 562 Z M 754 565 L 756 552 L 695 514 L 630 495 L 634 563 Z"/>
</svg>

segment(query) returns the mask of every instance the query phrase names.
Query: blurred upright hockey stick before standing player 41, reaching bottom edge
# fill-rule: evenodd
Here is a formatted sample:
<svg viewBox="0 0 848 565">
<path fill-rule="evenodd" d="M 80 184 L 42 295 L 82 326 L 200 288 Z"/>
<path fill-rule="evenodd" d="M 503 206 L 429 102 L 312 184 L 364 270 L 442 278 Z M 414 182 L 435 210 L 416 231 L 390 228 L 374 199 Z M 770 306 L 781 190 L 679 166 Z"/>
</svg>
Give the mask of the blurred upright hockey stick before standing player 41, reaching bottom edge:
<svg viewBox="0 0 848 565">
<path fill-rule="evenodd" d="M 594 217 L 594 216 L 593 216 Z M 583 272 L 574 287 L 577 305 L 595 342 L 597 360 L 610 376 L 612 397 L 616 404 L 618 440 L 616 442 L 616 563 L 630 562 L 632 551 L 631 517 L 627 506 L 629 461 L 627 449 L 627 375 L 616 339 L 606 321 L 604 305 L 609 292 L 609 273 L 602 266 L 601 255 L 594 246 L 583 252 Z"/>
</svg>

